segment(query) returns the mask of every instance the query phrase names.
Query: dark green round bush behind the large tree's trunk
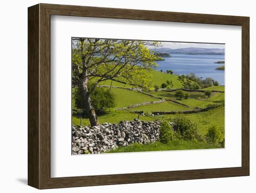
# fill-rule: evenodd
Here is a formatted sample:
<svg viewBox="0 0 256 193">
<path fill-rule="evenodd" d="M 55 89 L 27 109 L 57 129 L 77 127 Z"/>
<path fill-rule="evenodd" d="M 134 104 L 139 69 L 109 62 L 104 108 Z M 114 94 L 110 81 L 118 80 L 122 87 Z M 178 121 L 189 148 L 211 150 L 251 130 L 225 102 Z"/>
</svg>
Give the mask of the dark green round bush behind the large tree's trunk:
<svg viewBox="0 0 256 193">
<path fill-rule="evenodd" d="M 94 110 L 98 114 L 104 113 L 108 108 L 115 107 L 115 94 L 108 89 L 97 87 L 94 92 L 91 93 L 90 98 L 92 100 Z M 82 100 L 81 89 L 75 89 L 74 100 L 75 106 L 78 109 L 86 109 L 85 103 Z"/>
</svg>

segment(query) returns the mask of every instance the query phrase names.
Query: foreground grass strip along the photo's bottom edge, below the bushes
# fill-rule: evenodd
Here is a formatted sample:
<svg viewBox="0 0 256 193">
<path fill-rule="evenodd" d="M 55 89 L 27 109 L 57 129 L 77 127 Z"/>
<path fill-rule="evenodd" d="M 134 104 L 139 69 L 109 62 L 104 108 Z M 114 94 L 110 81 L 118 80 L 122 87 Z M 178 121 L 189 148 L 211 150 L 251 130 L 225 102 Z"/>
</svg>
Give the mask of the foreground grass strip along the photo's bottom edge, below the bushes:
<svg viewBox="0 0 256 193">
<path fill-rule="evenodd" d="M 124 153 L 124 152 L 147 152 L 147 151 L 168 151 L 168 150 L 188 150 L 188 149 L 212 149 L 221 148 L 218 145 L 209 145 L 207 143 L 193 141 L 173 141 L 167 144 L 161 142 L 148 143 L 141 145 L 135 143 L 130 146 L 116 148 L 106 153 Z"/>
</svg>

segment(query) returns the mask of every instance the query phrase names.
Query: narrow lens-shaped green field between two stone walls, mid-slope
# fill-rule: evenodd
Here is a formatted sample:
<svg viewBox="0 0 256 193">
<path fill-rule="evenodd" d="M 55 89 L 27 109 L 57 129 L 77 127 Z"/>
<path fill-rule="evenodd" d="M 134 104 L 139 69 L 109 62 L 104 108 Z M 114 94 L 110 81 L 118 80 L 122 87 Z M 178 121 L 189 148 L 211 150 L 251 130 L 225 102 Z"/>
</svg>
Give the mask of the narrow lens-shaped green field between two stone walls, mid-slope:
<svg viewBox="0 0 256 193">
<path fill-rule="evenodd" d="M 151 113 L 151 111 L 178 111 L 178 110 L 190 110 L 190 109 L 192 109 L 192 108 L 187 108 L 180 104 L 165 101 L 163 103 L 142 105 L 142 106 L 138 106 L 136 108 L 129 109 L 129 110 L 130 111 L 144 111 L 144 112 Z"/>
</svg>

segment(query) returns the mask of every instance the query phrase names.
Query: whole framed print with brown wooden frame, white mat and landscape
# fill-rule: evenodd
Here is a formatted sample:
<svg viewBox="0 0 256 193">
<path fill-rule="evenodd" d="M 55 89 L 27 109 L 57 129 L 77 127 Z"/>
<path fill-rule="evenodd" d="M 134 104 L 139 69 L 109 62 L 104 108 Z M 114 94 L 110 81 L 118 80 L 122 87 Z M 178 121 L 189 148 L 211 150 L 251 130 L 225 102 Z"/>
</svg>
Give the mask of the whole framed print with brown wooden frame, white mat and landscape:
<svg viewBox="0 0 256 193">
<path fill-rule="evenodd" d="M 249 175 L 249 18 L 28 8 L 28 185 Z"/>
</svg>

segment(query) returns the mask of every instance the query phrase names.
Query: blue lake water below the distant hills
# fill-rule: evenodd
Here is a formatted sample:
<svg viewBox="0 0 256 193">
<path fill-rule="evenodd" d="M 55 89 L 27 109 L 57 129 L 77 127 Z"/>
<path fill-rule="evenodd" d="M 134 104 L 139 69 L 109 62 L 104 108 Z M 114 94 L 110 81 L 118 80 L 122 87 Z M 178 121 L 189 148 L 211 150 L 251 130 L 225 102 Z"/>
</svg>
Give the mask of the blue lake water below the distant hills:
<svg viewBox="0 0 256 193">
<path fill-rule="evenodd" d="M 164 61 L 157 61 L 157 70 L 172 70 L 174 74 L 186 75 L 191 72 L 196 76 L 213 78 L 221 85 L 225 85 L 225 71 L 217 71 L 216 67 L 223 64 L 214 62 L 223 61 L 223 55 L 189 55 L 189 54 L 171 54 L 171 57 L 165 57 Z"/>
</svg>

